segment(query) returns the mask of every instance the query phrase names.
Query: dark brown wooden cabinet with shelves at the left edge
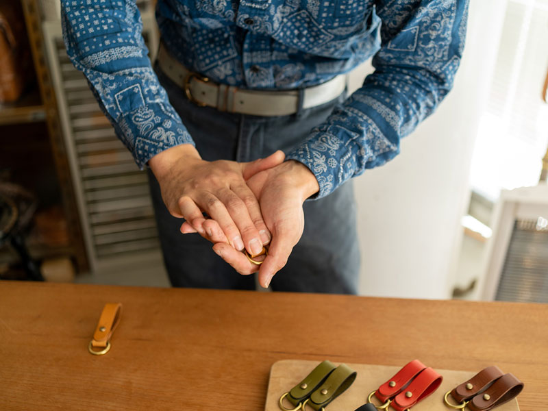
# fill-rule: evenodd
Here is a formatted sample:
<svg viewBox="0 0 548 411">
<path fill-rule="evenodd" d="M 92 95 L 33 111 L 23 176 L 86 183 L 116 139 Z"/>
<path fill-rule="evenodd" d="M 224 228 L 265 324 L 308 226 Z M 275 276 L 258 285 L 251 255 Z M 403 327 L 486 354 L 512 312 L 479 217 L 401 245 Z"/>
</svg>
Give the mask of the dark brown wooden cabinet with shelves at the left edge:
<svg viewBox="0 0 548 411">
<path fill-rule="evenodd" d="M 21 6 L 36 78 L 16 103 L 0 105 L 0 180 L 20 184 L 37 197 L 35 221 L 38 226 L 42 222 L 42 232 L 36 232 L 35 223 L 27 236 L 31 256 L 68 257 L 78 271 L 87 271 L 88 254 L 46 64 L 38 3 L 21 0 Z M 44 237 L 48 229 L 55 235 Z M 15 259 L 8 247 L 1 249 L 0 263 L 10 264 Z"/>
</svg>

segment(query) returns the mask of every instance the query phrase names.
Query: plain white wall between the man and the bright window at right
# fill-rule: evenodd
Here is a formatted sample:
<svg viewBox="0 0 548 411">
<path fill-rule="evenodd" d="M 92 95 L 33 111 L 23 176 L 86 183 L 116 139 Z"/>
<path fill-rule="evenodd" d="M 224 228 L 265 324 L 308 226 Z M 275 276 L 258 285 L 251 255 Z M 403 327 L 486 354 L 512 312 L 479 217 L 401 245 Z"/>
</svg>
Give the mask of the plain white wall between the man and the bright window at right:
<svg viewBox="0 0 548 411">
<path fill-rule="evenodd" d="M 471 0 L 466 49 L 453 90 L 403 140 L 395 160 L 354 180 L 363 295 L 451 297 L 478 114 L 486 102 L 504 5 Z"/>
</svg>

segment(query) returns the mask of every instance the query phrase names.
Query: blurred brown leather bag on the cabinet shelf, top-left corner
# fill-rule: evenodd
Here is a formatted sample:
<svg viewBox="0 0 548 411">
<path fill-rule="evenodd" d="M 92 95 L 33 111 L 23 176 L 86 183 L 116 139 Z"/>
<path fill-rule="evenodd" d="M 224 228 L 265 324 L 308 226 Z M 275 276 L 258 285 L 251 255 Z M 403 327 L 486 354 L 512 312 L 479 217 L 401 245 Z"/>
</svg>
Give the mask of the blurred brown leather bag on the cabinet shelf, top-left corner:
<svg viewBox="0 0 548 411">
<path fill-rule="evenodd" d="M 16 101 L 25 89 L 29 49 L 18 1 L 0 2 L 0 103 Z"/>
</svg>

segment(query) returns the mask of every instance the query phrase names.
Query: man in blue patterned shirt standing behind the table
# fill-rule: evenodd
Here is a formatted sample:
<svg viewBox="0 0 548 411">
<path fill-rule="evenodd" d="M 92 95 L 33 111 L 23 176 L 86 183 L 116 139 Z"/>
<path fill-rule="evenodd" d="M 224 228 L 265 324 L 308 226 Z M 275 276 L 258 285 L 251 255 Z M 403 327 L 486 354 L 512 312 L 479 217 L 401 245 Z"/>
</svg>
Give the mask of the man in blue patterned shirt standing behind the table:
<svg viewBox="0 0 548 411">
<path fill-rule="evenodd" d="M 73 64 L 151 170 L 172 284 L 254 287 L 188 236 L 198 232 L 238 273 L 258 270 L 262 286 L 356 292 L 345 182 L 394 158 L 399 140 L 447 95 L 467 3 L 159 0 L 153 71 L 132 1 L 62 0 Z M 375 73 L 346 99 L 343 74 L 373 54 Z M 240 252 L 266 244 L 260 266 Z"/>
</svg>

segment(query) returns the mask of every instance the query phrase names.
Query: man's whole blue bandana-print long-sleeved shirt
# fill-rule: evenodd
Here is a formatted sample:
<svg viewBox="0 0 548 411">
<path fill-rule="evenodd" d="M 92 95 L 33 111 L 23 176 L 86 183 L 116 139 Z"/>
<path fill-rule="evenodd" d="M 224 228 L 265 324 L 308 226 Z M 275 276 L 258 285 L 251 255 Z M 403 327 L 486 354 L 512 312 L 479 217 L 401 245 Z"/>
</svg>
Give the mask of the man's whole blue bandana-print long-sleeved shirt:
<svg viewBox="0 0 548 411">
<path fill-rule="evenodd" d="M 373 57 L 375 72 L 287 158 L 323 197 L 399 152 L 399 141 L 447 95 L 468 0 L 159 0 L 162 40 L 214 82 L 253 89 L 313 86 Z M 145 166 L 192 143 L 158 83 L 134 0 L 62 0 L 67 52 L 116 134 Z"/>
</svg>

